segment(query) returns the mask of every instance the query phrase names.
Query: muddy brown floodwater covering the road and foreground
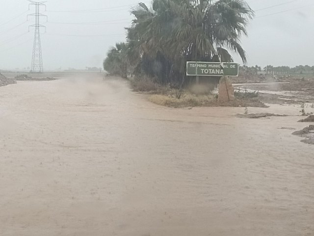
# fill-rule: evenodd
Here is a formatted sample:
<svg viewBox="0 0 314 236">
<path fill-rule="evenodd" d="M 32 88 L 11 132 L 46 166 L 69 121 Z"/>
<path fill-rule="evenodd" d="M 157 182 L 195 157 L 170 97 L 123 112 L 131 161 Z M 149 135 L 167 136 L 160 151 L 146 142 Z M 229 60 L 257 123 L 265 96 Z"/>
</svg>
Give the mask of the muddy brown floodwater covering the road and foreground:
<svg viewBox="0 0 314 236">
<path fill-rule="evenodd" d="M 119 79 L 0 87 L 0 236 L 314 236 L 314 145 L 288 114 L 166 108 Z"/>
</svg>

